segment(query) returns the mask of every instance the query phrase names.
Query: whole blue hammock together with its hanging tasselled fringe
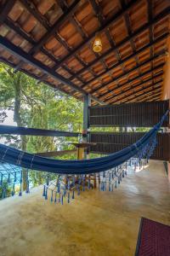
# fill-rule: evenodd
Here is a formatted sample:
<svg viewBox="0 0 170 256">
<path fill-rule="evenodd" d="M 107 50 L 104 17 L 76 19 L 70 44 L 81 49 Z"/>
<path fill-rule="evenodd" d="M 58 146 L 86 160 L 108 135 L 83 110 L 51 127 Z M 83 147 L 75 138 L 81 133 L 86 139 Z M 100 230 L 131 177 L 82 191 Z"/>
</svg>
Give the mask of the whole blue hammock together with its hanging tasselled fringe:
<svg viewBox="0 0 170 256">
<path fill-rule="evenodd" d="M 168 112 L 138 142 L 115 154 L 91 160 L 53 160 L 0 144 L 2 197 L 5 198 L 7 194 L 4 181 L 11 186 L 11 195 L 15 194 L 15 185 L 19 184 L 18 194 L 22 195 L 23 168 L 26 170 L 26 193 L 30 192 L 29 170 L 45 172 L 47 183 L 43 185 L 42 195 L 46 200 L 50 198 L 51 202 L 61 205 L 75 199 L 76 193 L 80 195 L 81 191 L 95 186 L 100 191 L 113 191 L 127 175 L 128 166 L 135 170 L 137 166 L 141 168 L 147 164 L 156 148 L 156 133 Z"/>
</svg>

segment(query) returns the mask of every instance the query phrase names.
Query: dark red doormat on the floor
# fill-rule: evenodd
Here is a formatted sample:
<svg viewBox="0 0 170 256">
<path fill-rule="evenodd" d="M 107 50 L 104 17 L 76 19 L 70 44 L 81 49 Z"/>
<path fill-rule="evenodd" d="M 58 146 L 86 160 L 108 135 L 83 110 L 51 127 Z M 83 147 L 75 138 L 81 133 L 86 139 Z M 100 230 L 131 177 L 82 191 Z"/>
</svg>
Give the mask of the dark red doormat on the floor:
<svg viewBox="0 0 170 256">
<path fill-rule="evenodd" d="M 135 256 L 170 256 L 170 226 L 141 218 Z"/>
</svg>

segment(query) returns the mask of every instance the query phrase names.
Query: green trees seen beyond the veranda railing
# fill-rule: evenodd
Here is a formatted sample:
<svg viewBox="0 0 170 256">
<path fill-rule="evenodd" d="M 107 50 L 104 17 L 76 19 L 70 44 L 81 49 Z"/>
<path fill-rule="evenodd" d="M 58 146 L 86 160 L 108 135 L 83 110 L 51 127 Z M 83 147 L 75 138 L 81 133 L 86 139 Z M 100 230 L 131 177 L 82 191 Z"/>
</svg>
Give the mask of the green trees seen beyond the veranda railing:
<svg viewBox="0 0 170 256">
<path fill-rule="evenodd" d="M 14 122 L 18 126 L 60 131 L 82 130 L 81 102 L 47 84 L 37 84 L 35 79 L 26 74 L 14 73 L 13 68 L 0 64 L 1 122 L 7 118 L 8 110 L 14 111 Z M 69 141 L 65 137 L 6 136 L 6 143 L 30 153 L 68 149 L 71 148 Z M 41 183 L 41 180 L 40 173 L 35 181 Z"/>
</svg>

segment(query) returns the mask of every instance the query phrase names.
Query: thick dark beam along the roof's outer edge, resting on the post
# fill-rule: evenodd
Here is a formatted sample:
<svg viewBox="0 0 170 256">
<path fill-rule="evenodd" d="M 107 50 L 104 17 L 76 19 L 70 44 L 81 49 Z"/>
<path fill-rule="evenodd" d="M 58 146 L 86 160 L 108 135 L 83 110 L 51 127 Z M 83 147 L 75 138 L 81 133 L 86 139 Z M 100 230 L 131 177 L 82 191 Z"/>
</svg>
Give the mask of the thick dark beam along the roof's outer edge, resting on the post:
<svg viewBox="0 0 170 256">
<path fill-rule="evenodd" d="M 3 47 L 3 49 L 7 49 L 12 55 L 18 57 L 21 61 L 26 61 L 26 63 L 30 63 L 32 66 L 37 67 L 43 73 L 47 73 L 52 78 L 58 80 L 60 83 L 68 85 L 72 90 L 76 90 L 82 95 L 87 94 L 85 90 L 82 90 L 82 88 L 78 87 L 76 84 L 73 84 L 69 79 L 65 79 L 58 73 L 54 73 L 50 67 L 42 64 L 41 61 L 37 61 L 37 59 L 26 53 L 23 49 L 20 49 L 20 47 L 17 47 L 16 45 L 8 41 L 7 38 L 3 38 L 2 36 L 0 36 L 0 45 Z M 91 98 L 99 104 L 105 104 L 105 102 L 99 101 L 99 99 L 97 99 L 95 96 L 91 96 Z"/>
</svg>

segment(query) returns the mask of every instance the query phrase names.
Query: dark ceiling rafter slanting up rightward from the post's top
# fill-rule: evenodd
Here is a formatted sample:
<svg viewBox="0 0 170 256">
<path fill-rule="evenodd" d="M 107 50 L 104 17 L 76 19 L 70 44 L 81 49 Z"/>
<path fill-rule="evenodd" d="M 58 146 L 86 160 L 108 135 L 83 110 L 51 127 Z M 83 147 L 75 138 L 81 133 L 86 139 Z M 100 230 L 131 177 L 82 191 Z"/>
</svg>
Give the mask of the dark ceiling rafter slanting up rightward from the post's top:
<svg viewBox="0 0 170 256">
<path fill-rule="evenodd" d="M 140 63 L 140 64 L 139 64 L 138 66 L 136 66 L 136 67 L 133 67 L 131 70 L 128 70 L 126 73 L 122 73 L 121 75 L 116 76 L 116 78 L 115 78 L 113 81 L 110 81 L 110 82 L 108 82 L 107 84 L 101 84 L 101 85 L 99 85 L 99 87 L 97 87 L 96 89 L 91 90 L 91 91 L 90 91 L 90 94 L 94 94 L 94 93 L 98 92 L 99 90 L 105 88 L 106 85 L 108 86 L 109 84 L 115 82 L 116 80 L 122 79 L 123 77 L 127 76 L 128 74 L 130 74 L 130 73 L 132 73 L 132 72 L 134 72 L 134 71 L 138 71 L 139 67 L 142 67 L 142 66 L 144 66 L 144 65 L 146 65 L 146 64 L 148 64 L 148 63 L 150 63 L 150 61 L 154 61 L 154 60 L 156 60 L 156 58 L 160 57 L 161 55 L 165 55 L 165 54 L 166 54 L 165 50 L 161 51 L 159 54 L 154 55 L 152 58 L 149 58 L 147 61 L 144 61 L 144 62 Z"/>
</svg>

